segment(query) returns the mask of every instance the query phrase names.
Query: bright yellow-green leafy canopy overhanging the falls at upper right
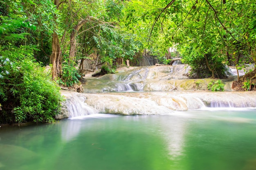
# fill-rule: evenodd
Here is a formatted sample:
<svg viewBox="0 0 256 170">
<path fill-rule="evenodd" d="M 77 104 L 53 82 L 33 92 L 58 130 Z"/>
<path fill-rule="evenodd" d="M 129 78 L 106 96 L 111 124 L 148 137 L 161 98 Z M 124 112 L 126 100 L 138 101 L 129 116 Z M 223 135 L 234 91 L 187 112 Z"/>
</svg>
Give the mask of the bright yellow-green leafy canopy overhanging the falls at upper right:
<svg viewBox="0 0 256 170">
<path fill-rule="evenodd" d="M 143 13 L 140 20 L 138 17 L 131 19 L 130 16 L 134 16 L 132 12 L 136 11 L 132 4 L 143 6 L 140 7 L 140 13 Z M 187 53 L 183 57 L 187 61 L 196 61 L 201 56 L 212 73 L 216 68 L 221 68 L 220 65 L 209 63 L 212 59 L 218 59 L 220 64 L 236 61 L 237 68 L 244 62 L 255 63 L 255 2 L 133 0 L 131 7 L 128 13 L 130 22 L 150 23 L 149 42 L 155 41 L 158 36 L 168 46 L 179 44 L 181 51 L 190 48 L 197 57 Z M 208 62 L 207 56 L 211 56 Z"/>
</svg>

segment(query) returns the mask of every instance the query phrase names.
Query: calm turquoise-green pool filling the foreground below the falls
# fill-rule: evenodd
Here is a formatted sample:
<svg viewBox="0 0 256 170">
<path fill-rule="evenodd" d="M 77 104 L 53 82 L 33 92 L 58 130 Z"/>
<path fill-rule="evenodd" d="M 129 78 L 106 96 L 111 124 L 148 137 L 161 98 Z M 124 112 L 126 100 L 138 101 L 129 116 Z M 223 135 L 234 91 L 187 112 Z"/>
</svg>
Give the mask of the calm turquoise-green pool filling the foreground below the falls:
<svg viewBox="0 0 256 170">
<path fill-rule="evenodd" d="M 256 110 L 0 128 L 0 170 L 255 170 Z"/>
</svg>

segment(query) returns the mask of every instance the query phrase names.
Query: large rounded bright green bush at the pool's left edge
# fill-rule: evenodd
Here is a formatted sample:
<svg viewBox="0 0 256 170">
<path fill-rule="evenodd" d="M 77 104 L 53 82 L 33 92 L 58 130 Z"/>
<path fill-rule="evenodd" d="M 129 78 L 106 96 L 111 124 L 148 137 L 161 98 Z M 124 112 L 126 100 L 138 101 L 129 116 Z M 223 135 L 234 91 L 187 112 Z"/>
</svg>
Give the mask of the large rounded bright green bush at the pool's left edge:
<svg viewBox="0 0 256 170">
<path fill-rule="evenodd" d="M 0 123 L 54 122 L 62 97 L 51 76 L 29 59 L 13 63 L 9 70 L 0 78 Z"/>
</svg>

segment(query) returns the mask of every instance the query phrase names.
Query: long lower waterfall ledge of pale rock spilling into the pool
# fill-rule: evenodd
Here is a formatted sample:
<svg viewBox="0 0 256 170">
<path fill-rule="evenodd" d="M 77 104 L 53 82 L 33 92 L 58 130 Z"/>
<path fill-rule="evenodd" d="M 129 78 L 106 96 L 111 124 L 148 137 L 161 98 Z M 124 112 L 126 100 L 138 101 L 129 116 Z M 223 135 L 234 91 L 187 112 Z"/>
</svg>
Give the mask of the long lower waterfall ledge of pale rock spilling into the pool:
<svg viewBox="0 0 256 170">
<path fill-rule="evenodd" d="M 254 108 L 254 92 L 119 92 L 76 93 L 63 91 L 69 117 L 95 113 L 121 115 L 169 114 L 209 107 Z"/>
</svg>

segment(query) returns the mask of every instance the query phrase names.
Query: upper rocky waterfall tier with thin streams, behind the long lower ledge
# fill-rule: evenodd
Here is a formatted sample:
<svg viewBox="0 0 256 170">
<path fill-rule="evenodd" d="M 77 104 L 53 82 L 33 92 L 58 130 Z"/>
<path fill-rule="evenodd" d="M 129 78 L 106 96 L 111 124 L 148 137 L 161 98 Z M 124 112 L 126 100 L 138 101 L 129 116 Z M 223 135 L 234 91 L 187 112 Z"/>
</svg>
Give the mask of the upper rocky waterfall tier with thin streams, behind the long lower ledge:
<svg viewBox="0 0 256 170">
<path fill-rule="evenodd" d="M 84 92 L 172 91 L 175 81 L 188 79 L 188 65 L 127 68 L 99 78 L 85 77 Z"/>
</svg>

